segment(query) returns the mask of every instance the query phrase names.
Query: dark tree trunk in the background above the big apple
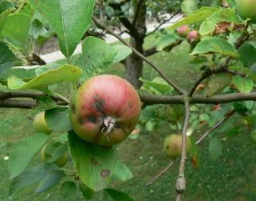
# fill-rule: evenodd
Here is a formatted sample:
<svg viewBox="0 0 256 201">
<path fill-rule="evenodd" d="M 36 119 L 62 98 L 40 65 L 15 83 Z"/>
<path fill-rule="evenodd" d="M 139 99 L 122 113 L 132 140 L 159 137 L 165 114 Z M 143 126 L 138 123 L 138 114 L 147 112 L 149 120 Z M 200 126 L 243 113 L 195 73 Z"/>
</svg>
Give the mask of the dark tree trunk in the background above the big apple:
<svg viewBox="0 0 256 201">
<path fill-rule="evenodd" d="M 137 51 L 143 54 L 143 43 L 146 35 L 146 5 L 145 1 L 140 3 L 140 7 L 138 8 L 137 17 L 135 17 L 135 28 L 137 30 L 137 37 L 131 37 L 130 45 L 135 47 Z M 136 14 L 135 14 L 136 16 Z M 142 76 L 143 71 L 143 60 L 139 56 L 135 55 L 135 53 L 131 53 L 129 58 L 125 61 L 125 79 L 135 87 L 135 89 L 139 89 L 142 86 L 141 81 L 139 81 Z"/>
</svg>

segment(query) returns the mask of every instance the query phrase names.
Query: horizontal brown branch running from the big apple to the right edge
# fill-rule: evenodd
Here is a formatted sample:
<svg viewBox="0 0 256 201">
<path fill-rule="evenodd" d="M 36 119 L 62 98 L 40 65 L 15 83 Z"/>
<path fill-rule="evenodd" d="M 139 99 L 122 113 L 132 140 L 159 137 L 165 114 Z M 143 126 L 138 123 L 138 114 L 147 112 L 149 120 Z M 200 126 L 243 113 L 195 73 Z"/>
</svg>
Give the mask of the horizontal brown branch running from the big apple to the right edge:
<svg viewBox="0 0 256 201">
<path fill-rule="evenodd" d="M 184 104 L 184 95 L 148 95 L 140 93 L 140 99 L 146 104 Z M 230 93 L 223 95 L 214 95 L 205 97 L 203 95 L 193 95 L 189 97 L 190 104 L 228 104 L 230 102 L 239 101 L 256 101 L 256 92 L 245 93 Z"/>
</svg>

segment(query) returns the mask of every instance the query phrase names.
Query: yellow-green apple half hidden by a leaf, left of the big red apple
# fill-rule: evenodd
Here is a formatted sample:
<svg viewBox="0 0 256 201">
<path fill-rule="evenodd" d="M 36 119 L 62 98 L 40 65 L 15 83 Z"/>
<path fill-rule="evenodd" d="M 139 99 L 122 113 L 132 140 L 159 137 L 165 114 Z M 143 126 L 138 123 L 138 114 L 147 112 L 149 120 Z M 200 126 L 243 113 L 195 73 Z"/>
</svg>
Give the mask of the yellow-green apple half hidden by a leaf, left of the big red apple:
<svg viewBox="0 0 256 201">
<path fill-rule="evenodd" d="M 34 120 L 33 120 L 33 124 L 32 124 L 33 129 L 35 129 L 35 131 L 37 133 L 45 133 L 47 135 L 49 135 L 51 133 L 51 129 L 49 129 L 47 123 L 45 122 L 45 112 L 39 112 Z"/>
</svg>

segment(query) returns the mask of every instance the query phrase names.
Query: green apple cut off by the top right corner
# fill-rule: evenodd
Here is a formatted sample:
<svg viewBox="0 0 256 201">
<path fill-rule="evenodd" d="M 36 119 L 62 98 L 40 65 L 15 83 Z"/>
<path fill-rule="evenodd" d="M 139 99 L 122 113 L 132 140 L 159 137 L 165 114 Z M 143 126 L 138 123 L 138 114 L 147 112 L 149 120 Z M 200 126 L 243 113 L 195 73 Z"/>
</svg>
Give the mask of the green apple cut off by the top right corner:
<svg viewBox="0 0 256 201">
<path fill-rule="evenodd" d="M 236 9 L 238 15 L 246 20 L 250 18 L 249 22 L 256 24 L 256 1 L 255 0 L 236 0 Z"/>
</svg>

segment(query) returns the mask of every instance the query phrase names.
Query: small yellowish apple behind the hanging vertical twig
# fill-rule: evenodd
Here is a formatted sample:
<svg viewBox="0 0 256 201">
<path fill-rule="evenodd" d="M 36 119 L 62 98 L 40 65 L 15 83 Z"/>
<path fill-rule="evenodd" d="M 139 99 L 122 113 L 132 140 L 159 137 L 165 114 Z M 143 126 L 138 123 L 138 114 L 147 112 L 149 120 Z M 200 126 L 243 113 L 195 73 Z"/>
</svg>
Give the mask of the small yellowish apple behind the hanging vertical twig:
<svg viewBox="0 0 256 201">
<path fill-rule="evenodd" d="M 165 154 L 171 158 L 181 156 L 182 154 L 182 135 L 171 134 L 165 138 L 164 141 Z M 191 141 L 187 136 L 186 139 L 186 151 L 189 152 L 191 149 Z"/>
</svg>

